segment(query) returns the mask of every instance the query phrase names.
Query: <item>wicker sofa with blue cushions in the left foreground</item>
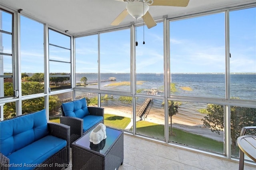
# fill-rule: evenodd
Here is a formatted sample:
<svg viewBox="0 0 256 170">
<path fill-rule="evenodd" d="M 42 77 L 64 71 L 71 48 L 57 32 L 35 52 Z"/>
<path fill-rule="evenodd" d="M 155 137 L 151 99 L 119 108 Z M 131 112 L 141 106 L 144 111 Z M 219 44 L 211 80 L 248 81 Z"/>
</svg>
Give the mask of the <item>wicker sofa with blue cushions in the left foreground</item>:
<svg viewBox="0 0 256 170">
<path fill-rule="evenodd" d="M 69 164 L 70 127 L 47 123 L 45 109 L 0 122 L 0 169 L 62 169 Z"/>
</svg>

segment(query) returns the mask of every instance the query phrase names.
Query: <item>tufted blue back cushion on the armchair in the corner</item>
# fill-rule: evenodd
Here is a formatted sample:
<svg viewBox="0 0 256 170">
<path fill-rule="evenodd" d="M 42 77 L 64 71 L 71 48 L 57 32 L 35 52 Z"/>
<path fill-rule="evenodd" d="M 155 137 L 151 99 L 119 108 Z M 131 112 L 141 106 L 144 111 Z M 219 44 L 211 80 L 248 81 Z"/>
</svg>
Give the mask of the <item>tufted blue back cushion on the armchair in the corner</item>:
<svg viewBox="0 0 256 170">
<path fill-rule="evenodd" d="M 78 117 L 82 119 L 83 117 L 89 115 L 85 98 L 67 103 L 62 103 L 62 108 L 65 113 L 65 116 Z"/>
</svg>

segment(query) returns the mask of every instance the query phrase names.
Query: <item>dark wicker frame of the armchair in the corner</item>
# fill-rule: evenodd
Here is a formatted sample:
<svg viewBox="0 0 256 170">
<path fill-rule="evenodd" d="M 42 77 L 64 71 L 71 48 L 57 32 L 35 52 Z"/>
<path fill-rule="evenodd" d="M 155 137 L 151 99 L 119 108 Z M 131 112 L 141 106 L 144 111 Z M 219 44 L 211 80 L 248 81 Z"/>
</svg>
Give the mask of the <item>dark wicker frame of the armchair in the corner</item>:
<svg viewBox="0 0 256 170">
<path fill-rule="evenodd" d="M 89 110 L 90 115 L 97 115 L 97 116 L 104 117 L 104 108 L 94 107 L 94 106 L 88 106 L 87 108 Z M 86 134 L 87 132 L 95 128 L 98 124 L 104 123 L 104 119 L 103 119 L 99 123 L 95 124 L 93 127 L 86 130 L 86 132 L 83 132 L 83 125 L 84 125 L 83 119 L 80 119 L 77 117 L 67 117 L 65 116 L 62 105 L 60 105 L 60 109 L 62 114 L 62 116 L 60 117 L 60 123 L 70 126 L 70 146 L 74 141 L 76 141 L 78 138 L 83 136 L 83 134 Z"/>
</svg>

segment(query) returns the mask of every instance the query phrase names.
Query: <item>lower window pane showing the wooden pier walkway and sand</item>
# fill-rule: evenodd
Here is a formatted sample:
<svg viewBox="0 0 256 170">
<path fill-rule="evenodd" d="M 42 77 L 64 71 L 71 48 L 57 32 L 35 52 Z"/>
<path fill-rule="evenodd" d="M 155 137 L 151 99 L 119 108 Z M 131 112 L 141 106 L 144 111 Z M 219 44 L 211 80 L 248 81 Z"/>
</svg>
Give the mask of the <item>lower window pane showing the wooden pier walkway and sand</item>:
<svg viewBox="0 0 256 170">
<path fill-rule="evenodd" d="M 136 133 L 164 140 L 164 103 L 162 99 L 136 98 Z"/>
</svg>

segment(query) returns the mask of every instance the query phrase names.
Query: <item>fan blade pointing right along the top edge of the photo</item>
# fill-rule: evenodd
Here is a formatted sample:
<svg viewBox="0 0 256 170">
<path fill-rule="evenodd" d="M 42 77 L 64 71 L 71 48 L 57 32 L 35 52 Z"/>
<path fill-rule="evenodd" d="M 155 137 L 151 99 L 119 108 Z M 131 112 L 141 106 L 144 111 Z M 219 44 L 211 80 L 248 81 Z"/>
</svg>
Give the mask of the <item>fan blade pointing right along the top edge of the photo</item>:
<svg viewBox="0 0 256 170">
<path fill-rule="evenodd" d="M 188 6 L 189 0 L 154 0 L 150 6 Z"/>
</svg>

